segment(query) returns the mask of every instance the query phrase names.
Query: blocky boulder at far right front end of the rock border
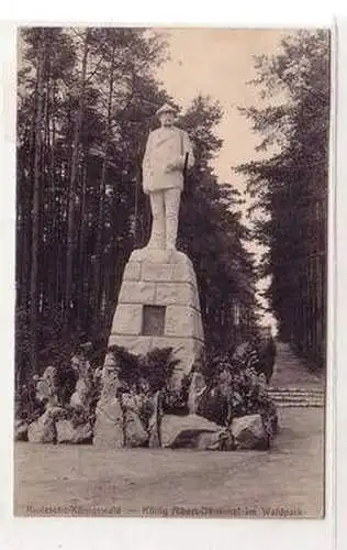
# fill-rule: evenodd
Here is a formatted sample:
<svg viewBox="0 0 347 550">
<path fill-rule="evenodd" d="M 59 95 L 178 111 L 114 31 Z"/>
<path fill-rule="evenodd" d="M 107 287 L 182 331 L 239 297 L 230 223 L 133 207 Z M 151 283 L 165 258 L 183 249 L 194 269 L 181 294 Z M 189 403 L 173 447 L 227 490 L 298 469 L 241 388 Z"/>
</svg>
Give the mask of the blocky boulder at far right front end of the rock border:
<svg viewBox="0 0 347 550">
<path fill-rule="evenodd" d="M 232 433 L 236 449 L 266 449 L 268 447 L 268 437 L 260 415 L 234 418 Z"/>
</svg>

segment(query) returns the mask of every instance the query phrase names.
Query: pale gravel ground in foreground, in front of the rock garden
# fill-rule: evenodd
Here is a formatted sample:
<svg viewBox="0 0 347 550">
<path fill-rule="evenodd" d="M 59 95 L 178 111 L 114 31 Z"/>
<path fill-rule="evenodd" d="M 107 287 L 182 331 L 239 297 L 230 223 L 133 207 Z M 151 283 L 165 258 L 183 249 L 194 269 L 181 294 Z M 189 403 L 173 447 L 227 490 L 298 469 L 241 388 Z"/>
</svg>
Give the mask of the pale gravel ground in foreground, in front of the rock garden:
<svg viewBox="0 0 347 550">
<path fill-rule="evenodd" d="M 323 409 L 282 409 L 280 417 L 269 452 L 102 452 L 16 443 L 14 513 L 165 516 L 211 507 L 210 516 L 262 517 L 270 508 L 321 517 Z"/>
</svg>

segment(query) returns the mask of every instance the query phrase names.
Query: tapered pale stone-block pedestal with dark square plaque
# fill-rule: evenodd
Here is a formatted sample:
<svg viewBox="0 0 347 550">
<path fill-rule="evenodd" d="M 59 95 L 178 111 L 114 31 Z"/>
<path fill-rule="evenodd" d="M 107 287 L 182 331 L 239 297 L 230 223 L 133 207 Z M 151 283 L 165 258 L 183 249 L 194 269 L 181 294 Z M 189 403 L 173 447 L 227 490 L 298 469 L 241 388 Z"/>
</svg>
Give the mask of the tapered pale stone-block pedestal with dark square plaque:
<svg viewBox="0 0 347 550">
<path fill-rule="evenodd" d="M 109 345 L 145 354 L 174 348 L 177 375 L 188 374 L 203 349 L 197 277 L 178 251 L 136 250 L 126 264 Z"/>
</svg>

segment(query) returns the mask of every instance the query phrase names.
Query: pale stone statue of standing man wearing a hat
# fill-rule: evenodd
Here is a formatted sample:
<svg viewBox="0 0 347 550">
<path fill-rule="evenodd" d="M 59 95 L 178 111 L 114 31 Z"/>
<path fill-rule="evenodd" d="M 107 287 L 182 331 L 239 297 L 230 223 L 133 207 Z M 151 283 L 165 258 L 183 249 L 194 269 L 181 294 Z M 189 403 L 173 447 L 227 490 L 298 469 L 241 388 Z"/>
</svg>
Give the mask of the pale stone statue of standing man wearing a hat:
<svg viewBox="0 0 347 550">
<path fill-rule="evenodd" d="M 143 189 L 153 216 L 148 248 L 176 250 L 183 172 L 194 164 L 187 132 L 174 125 L 175 109 L 163 106 L 156 116 L 160 128 L 150 132 L 143 160 Z"/>
</svg>

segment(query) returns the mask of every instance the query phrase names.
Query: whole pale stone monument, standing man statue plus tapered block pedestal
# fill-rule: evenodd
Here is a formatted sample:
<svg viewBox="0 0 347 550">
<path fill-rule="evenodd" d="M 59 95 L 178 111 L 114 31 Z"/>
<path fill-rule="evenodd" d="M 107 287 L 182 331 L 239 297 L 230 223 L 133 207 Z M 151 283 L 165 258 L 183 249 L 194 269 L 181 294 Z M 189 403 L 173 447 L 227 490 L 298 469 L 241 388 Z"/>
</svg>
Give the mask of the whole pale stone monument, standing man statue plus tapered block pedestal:
<svg viewBox="0 0 347 550">
<path fill-rule="evenodd" d="M 179 385 L 200 356 L 204 336 L 193 265 L 176 249 L 184 172 L 193 166 L 194 156 L 187 132 L 174 125 L 174 116 L 170 106 L 161 107 L 157 111 L 160 128 L 148 136 L 143 189 L 149 196 L 152 233 L 148 244 L 134 250 L 125 266 L 109 346 L 124 346 L 136 354 L 172 348 L 180 360 L 174 374 Z M 107 358 L 105 373 L 109 362 Z"/>
</svg>

